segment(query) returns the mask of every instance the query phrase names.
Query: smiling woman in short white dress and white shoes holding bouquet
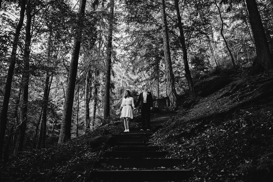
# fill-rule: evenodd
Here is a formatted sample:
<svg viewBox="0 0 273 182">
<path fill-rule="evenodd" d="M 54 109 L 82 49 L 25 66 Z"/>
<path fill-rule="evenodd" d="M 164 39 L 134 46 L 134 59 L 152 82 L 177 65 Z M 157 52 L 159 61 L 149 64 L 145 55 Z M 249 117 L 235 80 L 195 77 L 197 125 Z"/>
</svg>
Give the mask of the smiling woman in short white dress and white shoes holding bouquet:
<svg viewBox="0 0 273 182">
<path fill-rule="evenodd" d="M 121 115 L 120 118 L 124 118 L 124 132 L 129 132 L 130 119 L 133 119 L 134 99 L 131 97 L 129 90 L 125 91 L 125 96 L 120 105 Z"/>
</svg>

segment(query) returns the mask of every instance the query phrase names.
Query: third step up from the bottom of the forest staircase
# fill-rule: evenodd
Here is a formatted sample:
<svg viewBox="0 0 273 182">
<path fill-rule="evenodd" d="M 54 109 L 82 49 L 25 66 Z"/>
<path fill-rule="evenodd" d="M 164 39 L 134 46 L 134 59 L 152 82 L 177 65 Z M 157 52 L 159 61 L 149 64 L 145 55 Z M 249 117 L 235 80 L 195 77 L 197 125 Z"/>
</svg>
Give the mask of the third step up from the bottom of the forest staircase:
<svg viewBox="0 0 273 182">
<path fill-rule="evenodd" d="M 109 158 L 156 158 L 163 157 L 167 151 L 105 151 L 103 157 Z"/>
</svg>

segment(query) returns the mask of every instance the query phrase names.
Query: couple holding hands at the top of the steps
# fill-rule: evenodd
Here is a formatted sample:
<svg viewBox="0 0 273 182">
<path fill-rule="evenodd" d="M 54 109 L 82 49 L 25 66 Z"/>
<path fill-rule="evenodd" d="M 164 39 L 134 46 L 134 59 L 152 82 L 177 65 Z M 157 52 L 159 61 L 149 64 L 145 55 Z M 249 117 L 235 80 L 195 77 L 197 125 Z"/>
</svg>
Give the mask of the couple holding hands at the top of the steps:
<svg viewBox="0 0 273 182">
<path fill-rule="evenodd" d="M 150 113 L 153 109 L 153 98 L 152 93 L 148 92 L 148 85 L 143 85 L 143 92 L 140 93 L 136 105 L 134 104 L 133 97 L 131 97 L 130 91 L 125 91 L 125 96 L 123 97 L 120 110 L 120 118 L 124 118 L 124 132 L 129 131 L 130 119 L 133 119 L 133 110 L 140 104 L 141 119 L 142 119 L 142 129 L 140 131 L 147 130 L 150 132 Z M 133 108 L 133 110 L 132 110 Z"/>
</svg>

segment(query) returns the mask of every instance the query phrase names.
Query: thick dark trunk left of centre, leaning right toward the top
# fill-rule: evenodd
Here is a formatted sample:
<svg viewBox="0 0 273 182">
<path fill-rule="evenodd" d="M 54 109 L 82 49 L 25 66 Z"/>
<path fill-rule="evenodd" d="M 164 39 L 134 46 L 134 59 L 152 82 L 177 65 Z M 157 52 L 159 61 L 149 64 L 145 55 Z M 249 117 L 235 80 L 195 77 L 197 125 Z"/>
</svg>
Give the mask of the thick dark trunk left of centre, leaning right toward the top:
<svg viewBox="0 0 273 182">
<path fill-rule="evenodd" d="M 77 18 L 77 29 L 76 35 L 74 38 L 73 52 L 71 57 L 69 77 L 66 88 L 66 97 L 63 108 L 63 116 L 61 123 L 61 130 L 59 135 L 58 143 L 65 143 L 71 138 L 71 116 L 72 116 L 72 107 L 74 100 L 74 91 L 75 91 L 75 82 L 77 76 L 78 60 L 79 60 L 79 51 L 82 38 L 82 29 L 81 29 L 81 20 L 84 16 L 86 0 L 80 0 L 79 3 L 79 12 Z"/>
</svg>

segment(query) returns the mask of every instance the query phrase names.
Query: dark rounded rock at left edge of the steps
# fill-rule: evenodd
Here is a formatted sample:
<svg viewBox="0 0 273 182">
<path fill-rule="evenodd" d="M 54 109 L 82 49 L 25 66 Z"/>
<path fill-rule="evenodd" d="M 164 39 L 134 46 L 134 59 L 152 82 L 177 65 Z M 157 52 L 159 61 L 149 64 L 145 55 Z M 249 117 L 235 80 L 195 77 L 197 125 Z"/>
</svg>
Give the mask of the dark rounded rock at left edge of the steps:
<svg viewBox="0 0 273 182">
<path fill-rule="evenodd" d="M 95 152 L 99 149 L 106 150 L 109 146 L 114 146 L 116 139 L 114 136 L 104 135 L 96 136 L 95 138 L 89 141 L 89 146 L 92 152 Z"/>
</svg>

